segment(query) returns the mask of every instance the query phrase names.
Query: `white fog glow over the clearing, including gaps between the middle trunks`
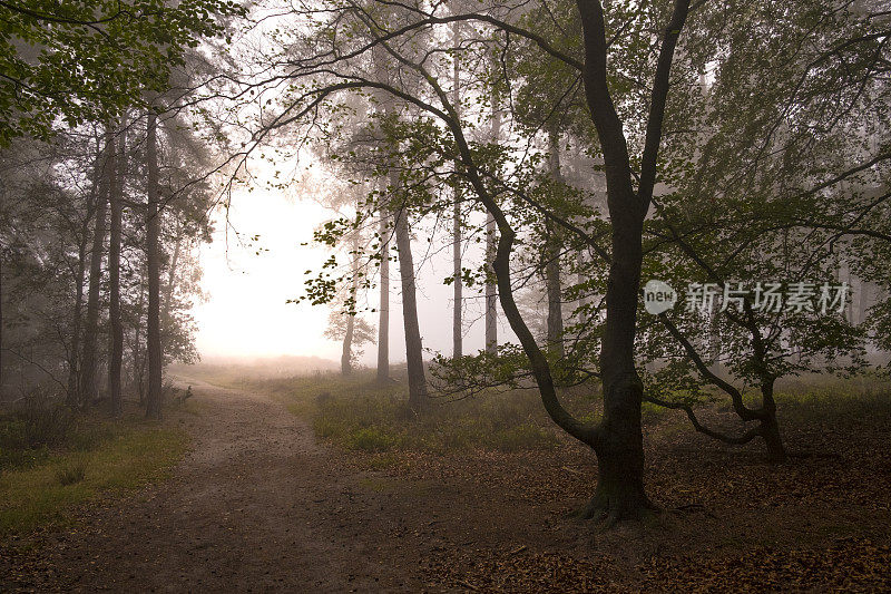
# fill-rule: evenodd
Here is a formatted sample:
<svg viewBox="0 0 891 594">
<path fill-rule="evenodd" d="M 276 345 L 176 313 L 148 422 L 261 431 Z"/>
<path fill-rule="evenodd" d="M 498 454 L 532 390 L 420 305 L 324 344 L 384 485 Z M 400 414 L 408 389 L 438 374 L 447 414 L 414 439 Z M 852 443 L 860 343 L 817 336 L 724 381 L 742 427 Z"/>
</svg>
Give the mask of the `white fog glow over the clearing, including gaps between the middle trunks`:
<svg viewBox="0 0 891 594">
<path fill-rule="evenodd" d="M 287 303 L 303 294 L 304 272 L 317 271 L 330 255 L 313 244 L 312 235 L 334 216 L 312 196 L 264 189 L 262 183 L 256 183 L 253 192 L 236 192 L 228 213 L 222 207 L 215 212 L 214 241 L 200 250 L 200 286 L 206 301 L 194 310 L 198 324 L 196 344 L 203 357 L 291 354 L 340 360 L 340 341 L 323 335 L 330 306 Z M 418 227 L 413 252 L 423 345 L 449 353 L 453 300 L 451 286 L 442 280 L 451 273 L 451 252 L 446 253 L 441 245 L 437 251 L 430 243 L 419 241 L 428 235 L 423 224 Z M 256 235 L 260 240 L 252 241 Z M 448 244 L 447 247 L 450 249 Z M 478 251 L 476 245 L 468 247 L 467 255 L 476 257 Z M 396 363 L 405 360 L 398 266 L 391 266 L 390 275 L 390 357 Z M 365 311 L 361 315 L 376 328 L 378 314 L 371 311 L 380 303 L 376 291 L 362 299 Z M 464 352 L 470 353 L 483 345 L 482 299 L 466 288 L 464 301 Z M 509 340 L 511 335 L 500 317 L 499 337 Z M 365 345 L 360 364 L 373 367 L 375 352 L 374 344 Z"/>
</svg>

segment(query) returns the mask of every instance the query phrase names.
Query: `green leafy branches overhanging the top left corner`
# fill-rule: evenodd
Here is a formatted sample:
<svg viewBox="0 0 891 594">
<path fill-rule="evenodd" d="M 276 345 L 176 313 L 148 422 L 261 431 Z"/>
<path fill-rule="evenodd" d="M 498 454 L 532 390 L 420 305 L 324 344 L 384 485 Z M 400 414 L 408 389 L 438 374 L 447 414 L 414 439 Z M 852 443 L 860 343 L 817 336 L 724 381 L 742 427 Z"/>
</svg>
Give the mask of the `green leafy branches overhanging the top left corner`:
<svg viewBox="0 0 891 594">
<path fill-rule="evenodd" d="M 110 121 L 145 92 L 168 89 L 188 48 L 243 13 L 233 0 L 3 0 L 0 2 L 0 146 Z"/>
</svg>

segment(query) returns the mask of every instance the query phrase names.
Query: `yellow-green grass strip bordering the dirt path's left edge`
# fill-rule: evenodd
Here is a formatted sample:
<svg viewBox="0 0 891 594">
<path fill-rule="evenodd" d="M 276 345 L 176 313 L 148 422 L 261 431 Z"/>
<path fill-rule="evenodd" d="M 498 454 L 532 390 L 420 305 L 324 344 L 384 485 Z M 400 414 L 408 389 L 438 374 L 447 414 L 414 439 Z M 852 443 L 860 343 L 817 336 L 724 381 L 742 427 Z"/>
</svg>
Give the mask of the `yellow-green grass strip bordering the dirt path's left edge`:
<svg viewBox="0 0 891 594">
<path fill-rule="evenodd" d="M 141 419 L 81 421 L 62 444 L 0 474 L 0 536 L 63 524 L 99 495 L 165 478 L 186 446 L 184 432 Z"/>
</svg>

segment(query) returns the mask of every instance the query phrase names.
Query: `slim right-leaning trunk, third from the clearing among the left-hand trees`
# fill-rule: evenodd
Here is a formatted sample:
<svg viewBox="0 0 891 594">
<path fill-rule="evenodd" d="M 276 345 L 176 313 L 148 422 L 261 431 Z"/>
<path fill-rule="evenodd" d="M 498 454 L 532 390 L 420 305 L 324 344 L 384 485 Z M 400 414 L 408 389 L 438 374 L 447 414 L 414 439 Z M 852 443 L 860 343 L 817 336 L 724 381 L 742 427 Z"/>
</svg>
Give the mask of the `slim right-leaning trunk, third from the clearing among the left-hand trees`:
<svg viewBox="0 0 891 594">
<path fill-rule="evenodd" d="M 102 247 L 105 246 L 106 218 L 108 216 L 108 175 L 112 166 L 114 142 L 106 139 L 102 155 L 97 162 L 96 218 L 92 227 L 90 252 L 89 290 L 87 291 L 87 319 L 84 324 L 84 351 L 80 357 L 80 408 L 87 408 L 98 397 L 96 384 L 97 347 L 99 342 L 99 285 L 102 275 Z"/>
</svg>

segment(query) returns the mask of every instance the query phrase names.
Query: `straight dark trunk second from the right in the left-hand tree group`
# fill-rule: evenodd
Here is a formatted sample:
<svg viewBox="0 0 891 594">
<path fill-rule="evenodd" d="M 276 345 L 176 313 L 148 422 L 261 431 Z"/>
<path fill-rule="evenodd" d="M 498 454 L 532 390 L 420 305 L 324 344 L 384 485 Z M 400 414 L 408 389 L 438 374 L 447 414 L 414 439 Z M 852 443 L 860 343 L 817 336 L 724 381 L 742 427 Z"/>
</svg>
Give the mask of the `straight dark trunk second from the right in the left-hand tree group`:
<svg viewBox="0 0 891 594">
<path fill-rule="evenodd" d="M 120 227 L 124 216 L 124 196 L 121 196 L 121 181 L 119 172 L 124 171 L 123 159 L 125 139 L 121 133 L 118 149 L 115 149 L 114 130 L 108 130 L 108 144 L 112 148 L 109 157 L 108 195 L 111 206 L 111 225 L 108 245 L 108 322 L 111 330 L 110 358 L 108 360 L 108 396 L 111 413 L 120 415 L 123 402 L 120 398 L 120 368 L 124 362 L 124 324 L 120 321 Z"/>
</svg>

